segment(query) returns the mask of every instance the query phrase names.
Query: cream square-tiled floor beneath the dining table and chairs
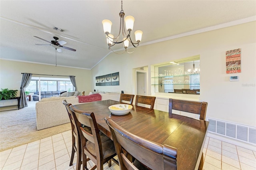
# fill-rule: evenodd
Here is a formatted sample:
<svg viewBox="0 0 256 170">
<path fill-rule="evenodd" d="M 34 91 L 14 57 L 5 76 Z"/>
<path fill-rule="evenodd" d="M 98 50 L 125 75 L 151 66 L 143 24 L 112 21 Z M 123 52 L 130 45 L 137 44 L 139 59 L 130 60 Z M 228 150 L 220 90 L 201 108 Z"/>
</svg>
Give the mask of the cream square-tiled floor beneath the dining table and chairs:
<svg viewBox="0 0 256 170">
<path fill-rule="evenodd" d="M 71 130 L 0 152 L 0 170 L 75 170 L 76 157 L 69 166 Z M 94 164 L 90 161 L 88 168 Z M 104 170 L 119 170 L 112 163 Z M 256 170 L 256 151 L 207 137 L 204 170 Z"/>
</svg>

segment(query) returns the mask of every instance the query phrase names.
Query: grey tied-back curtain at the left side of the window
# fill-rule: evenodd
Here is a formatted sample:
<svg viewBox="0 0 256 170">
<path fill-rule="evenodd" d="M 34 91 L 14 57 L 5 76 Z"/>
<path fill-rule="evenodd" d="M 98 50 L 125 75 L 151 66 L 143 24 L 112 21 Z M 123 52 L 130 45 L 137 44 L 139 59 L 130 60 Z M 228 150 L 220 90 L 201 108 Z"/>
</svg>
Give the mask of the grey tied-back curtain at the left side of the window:
<svg viewBox="0 0 256 170">
<path fill-rule="evenodd" d="M 20 86 L 20 108 L 28 107 L 27 97 L 24 88 L 28 87 L 31 77 L 32 73 L 23 73 L 22 75 L 22 81 Z"/>
</svg>

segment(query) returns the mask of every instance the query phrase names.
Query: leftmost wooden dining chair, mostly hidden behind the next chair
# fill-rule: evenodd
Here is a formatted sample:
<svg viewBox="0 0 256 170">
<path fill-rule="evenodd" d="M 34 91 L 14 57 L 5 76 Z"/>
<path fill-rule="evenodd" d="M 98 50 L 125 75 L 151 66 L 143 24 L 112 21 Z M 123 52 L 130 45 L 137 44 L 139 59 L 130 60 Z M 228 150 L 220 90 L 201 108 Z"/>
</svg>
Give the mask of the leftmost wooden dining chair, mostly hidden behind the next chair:
<svg viewBox="0 0 256 170">
<path fill-rule="evenodd" d="M 68 116 L 70 119 L 70 123 L 71 123 L 71 131 L 72 131 L 72 153 L 71 153 L 71 158 L 70 158 L 70 163 L 69 166 L 71 166 L 73 164 L 73 160 L 74 160 L 74 154 L 76 152 L 76 170 L 80 170 L 81 168 L 81 164 L 82 164 L 82 150 L 81 150 L 81 140 L 80 140 L 80 135 L 77 131 L 76 127 L 76 123 L 74 120 L 74 117 L 72 115 L 72 111 L 70 110 L 70 103 L 67 103 L 66 100 L 63 100 L 62 103 L 65 105 L 67 112 L 68 112 Z M 76 140 L 77 138 L 77 140 Z"/>
</svg>

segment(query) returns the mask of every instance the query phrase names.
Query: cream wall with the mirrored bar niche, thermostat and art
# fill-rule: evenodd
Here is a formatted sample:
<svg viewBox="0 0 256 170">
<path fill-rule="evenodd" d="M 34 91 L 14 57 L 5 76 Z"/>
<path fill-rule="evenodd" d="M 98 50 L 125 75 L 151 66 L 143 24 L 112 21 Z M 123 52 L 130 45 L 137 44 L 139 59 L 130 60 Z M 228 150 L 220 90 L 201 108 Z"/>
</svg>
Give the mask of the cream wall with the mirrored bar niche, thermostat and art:
<svg viewBox="0 0 256 170">
<path fill-rule="evenodd" d="M 143 42 L 143 38 L 142 38 Z M 226 54 L 241 48 L 240 81 L 230 82 Z M 200 100 L 208 102 L 206 117 L 256 127 L 256 22 L 138 47 L 134 53 L 111 53 L 92 69 L 92 87 L 99 91 L 134 93 L 132 69 L 200 55 Z M 118 72 L 119 86 L 95 86 L 95 77 Z M 153 75 L 152 75 L 153 76 Z M 151 72 L 148 70 L 148 86 Z M 245 86 L 250 85 L 250 86 Z M 150 95 L 150 88 L 147 89 Z"/>
</svg>

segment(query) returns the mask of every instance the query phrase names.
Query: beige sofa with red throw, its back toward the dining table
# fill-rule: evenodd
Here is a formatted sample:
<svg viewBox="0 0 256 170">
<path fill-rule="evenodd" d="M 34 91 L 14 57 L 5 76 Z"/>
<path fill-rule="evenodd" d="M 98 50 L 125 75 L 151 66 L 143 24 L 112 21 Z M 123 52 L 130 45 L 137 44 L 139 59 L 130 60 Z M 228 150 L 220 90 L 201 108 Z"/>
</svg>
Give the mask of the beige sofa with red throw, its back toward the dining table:
<svg viewBox="0 0 256 170">
<path fill-rule="evenodd" d="M 120 100 L 120 93 L 99 93 L 101 100 Z M 88 95 L 90 97 L 90 95 Z M 37 130 L 70 123 L 66 107 L 62 101 L 66 99 L 72 105 L 82 104 L 76 96 L 43 98 L 36 103 Z"/>
</svg>

